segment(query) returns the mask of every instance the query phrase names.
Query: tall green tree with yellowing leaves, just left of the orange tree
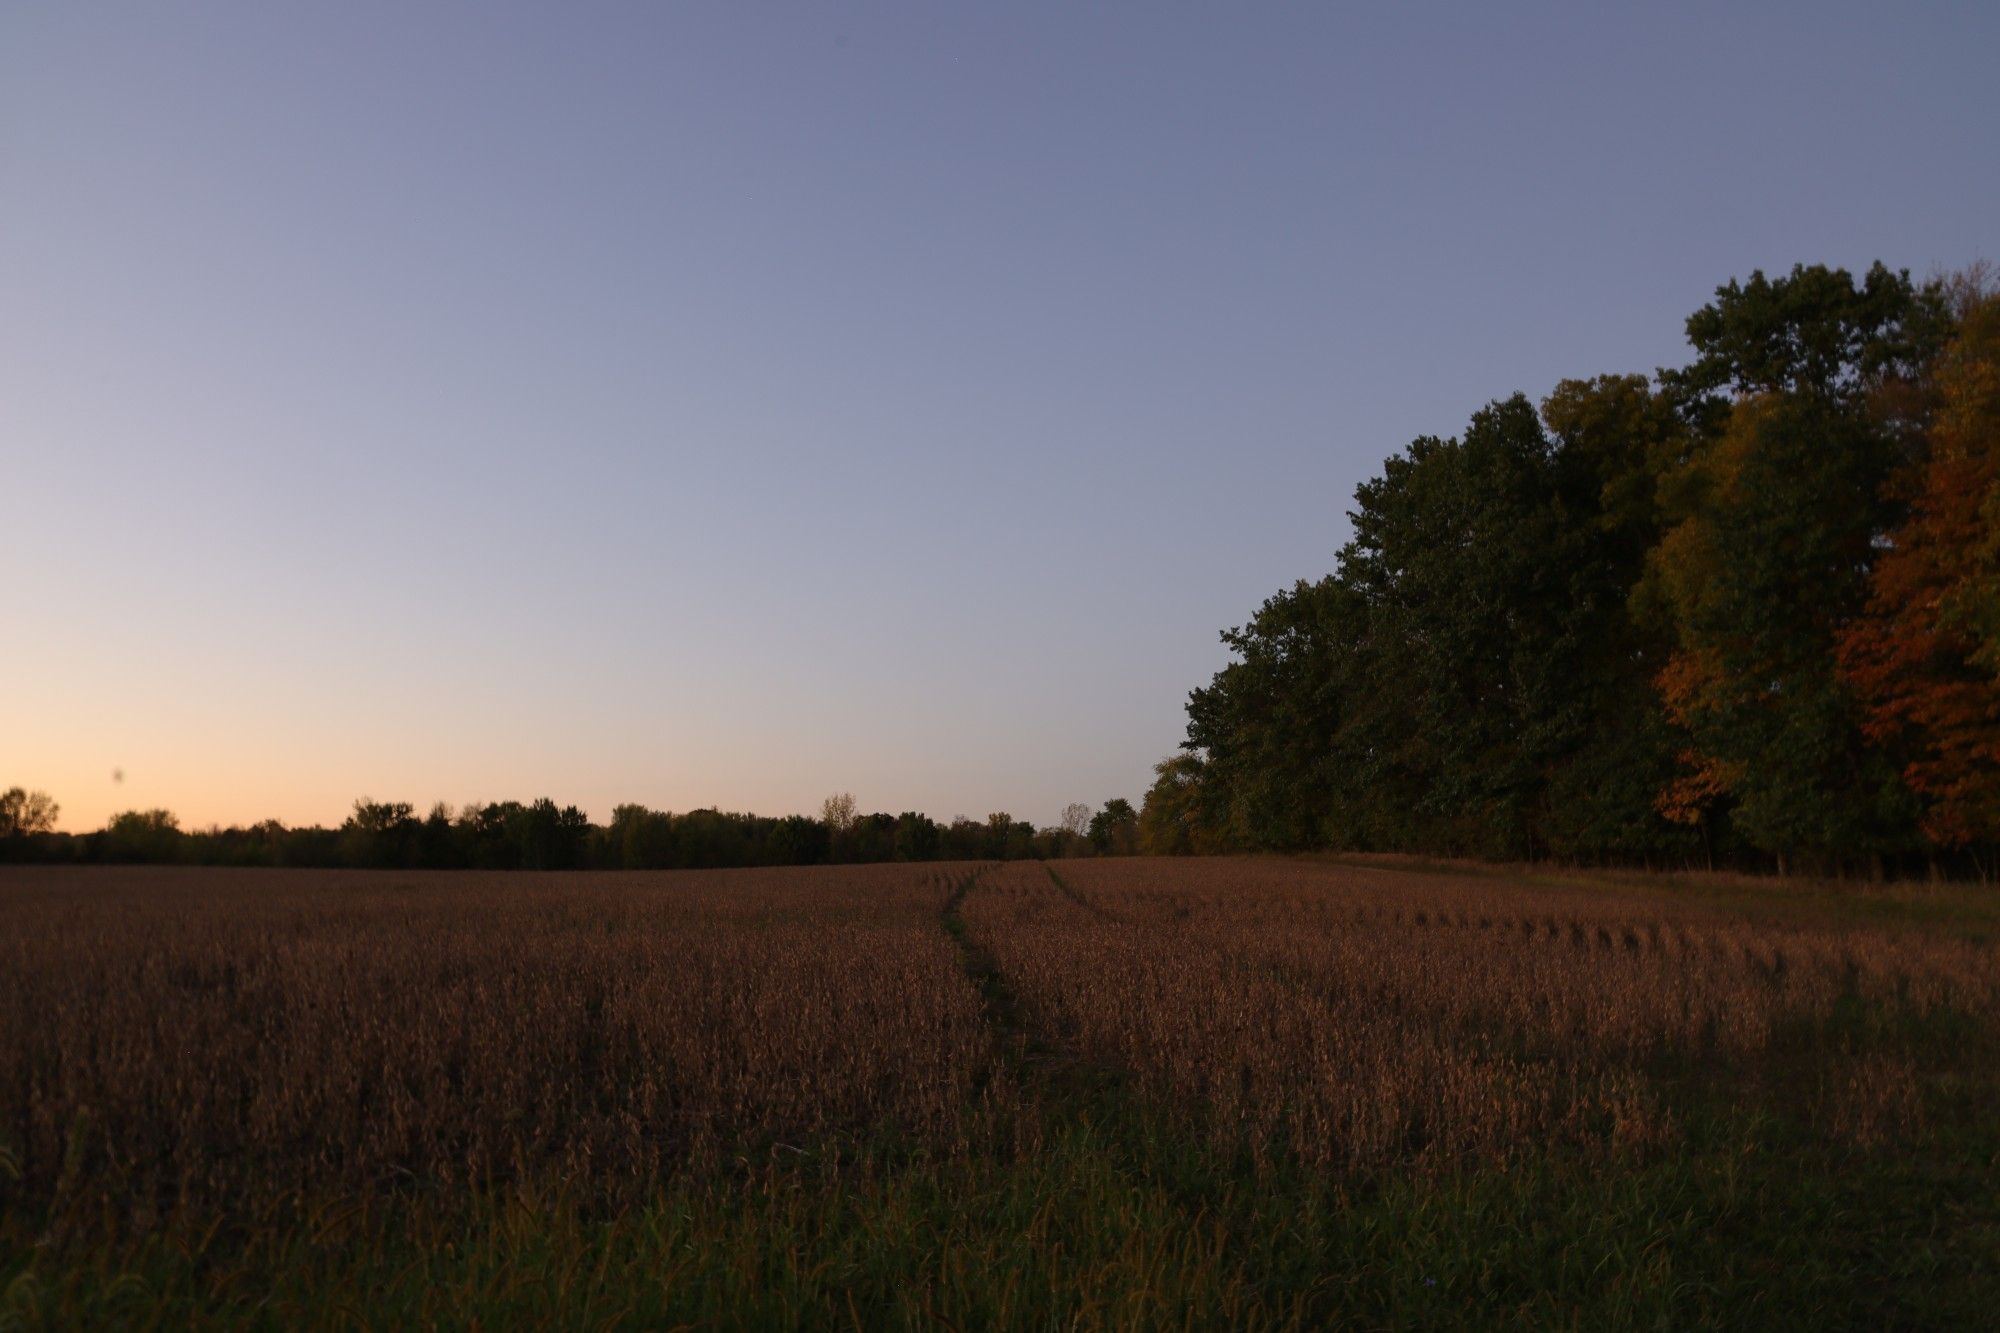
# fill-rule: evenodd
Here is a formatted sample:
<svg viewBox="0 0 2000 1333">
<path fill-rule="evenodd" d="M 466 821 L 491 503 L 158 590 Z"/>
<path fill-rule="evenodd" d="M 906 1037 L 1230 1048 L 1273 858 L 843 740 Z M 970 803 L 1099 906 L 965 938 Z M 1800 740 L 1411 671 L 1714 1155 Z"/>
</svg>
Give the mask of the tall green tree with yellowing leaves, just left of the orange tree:
<svg viewBox="0 0 2000 1333">
<path fill-rule="evenodd" d="M 1862 735 L 1834 642 L 1866 598 L 1910 444 L 1906 388 L 1944 320 L 1934 290 L 1876 264 L 1730 282 L 1688 320 L 1696 360 L 1662 372 L 1696 436 L 1660 476 L 1668 532 L 1644 602 L 1676 638 L 1660 673 L 1692 745 L 1662 811 L 1718 801 L 1780 863 L 1842 865 L 1910 843 L 1908 799 Z"/>
</svg>

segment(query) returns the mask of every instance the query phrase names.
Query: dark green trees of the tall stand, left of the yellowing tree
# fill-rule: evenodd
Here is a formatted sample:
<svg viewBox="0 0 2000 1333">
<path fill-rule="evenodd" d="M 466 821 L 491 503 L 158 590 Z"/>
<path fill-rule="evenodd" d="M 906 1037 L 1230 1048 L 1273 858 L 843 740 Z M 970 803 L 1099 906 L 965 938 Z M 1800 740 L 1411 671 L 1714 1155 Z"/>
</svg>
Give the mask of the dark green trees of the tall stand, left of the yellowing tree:
<svg viewBox="0 0 2000 1333">
<path fill-rule="evenodd" d="M 1188 703 L 1202 805 L 1252 849 L 1664 853 L 1672 753 L 1626 592 L 1648 460 L 1642 380 L 1520 396 L 1416 440 L 1356 492 L 1340 568 L 1264 602 Z M 1624 781 L 1604 781 L 1616 775 Z M 1636 777 L 1634 777 L 1636 775 Z"/>
</svg>

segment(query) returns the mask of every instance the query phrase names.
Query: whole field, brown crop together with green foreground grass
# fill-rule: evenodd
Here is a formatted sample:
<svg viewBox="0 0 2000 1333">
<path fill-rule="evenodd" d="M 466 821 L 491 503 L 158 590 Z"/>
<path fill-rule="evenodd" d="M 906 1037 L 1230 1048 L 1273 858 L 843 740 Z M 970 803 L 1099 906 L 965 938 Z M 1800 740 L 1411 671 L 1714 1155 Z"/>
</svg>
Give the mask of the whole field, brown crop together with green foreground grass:
<svg viewBox="0 0 2000 1333">
<path fill-rule="evenodd" d="M 1962 889 L 0 871 L 0 1329 L 1954 1325 Z"/>
</svg>

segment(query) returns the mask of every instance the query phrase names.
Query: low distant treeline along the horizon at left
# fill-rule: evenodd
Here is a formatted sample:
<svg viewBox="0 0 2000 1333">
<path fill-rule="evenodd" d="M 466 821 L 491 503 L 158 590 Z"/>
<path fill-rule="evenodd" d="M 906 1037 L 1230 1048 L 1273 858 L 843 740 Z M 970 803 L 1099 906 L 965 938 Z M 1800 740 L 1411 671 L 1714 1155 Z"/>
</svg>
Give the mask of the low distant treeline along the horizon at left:
<svg viewBox="0 0 2000 1333">
<path fill-rule="evenodd" d="M 16 801 L 18 799 L 18 801 Z M 238 865 L 472 871 L 670 871 L 862 861 L 1016 861 L 1130 855 L 1138 813 L 1108 801 L 1036 829 L 1012 815 L 938 823 L 928 815 L 862 815 L 854 799 L 826 801 L 820 817 L 648 811 L 620 805 L 592 825 L 574 805 L 496 801 L 418 817 L 408 803 L 356 801 L 338 829 L 264 821 L 182 829 L 168 811 L 126 811 L 98 833 L 56 833 L 42 793 L 0 795 L 0 859 L 104 865 Z"/>
</svg>

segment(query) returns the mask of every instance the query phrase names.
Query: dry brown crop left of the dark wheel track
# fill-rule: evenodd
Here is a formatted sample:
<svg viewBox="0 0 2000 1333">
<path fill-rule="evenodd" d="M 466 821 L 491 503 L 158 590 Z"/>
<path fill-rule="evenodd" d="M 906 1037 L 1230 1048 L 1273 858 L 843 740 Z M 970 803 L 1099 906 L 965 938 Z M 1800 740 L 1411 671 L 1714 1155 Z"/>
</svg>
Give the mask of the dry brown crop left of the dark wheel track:
<svg viewBox="0 0 2000 1333">
<path fill-rule="evenodd" d="M 616 1187 L 882 1127 L 950 1143 L 990 1057 L 938 927 L 950 887 L 948 867 L 14 873 L 0 1151 L 32 1199 L 144 1221 L 380 1181 Z"/>
</svg>

